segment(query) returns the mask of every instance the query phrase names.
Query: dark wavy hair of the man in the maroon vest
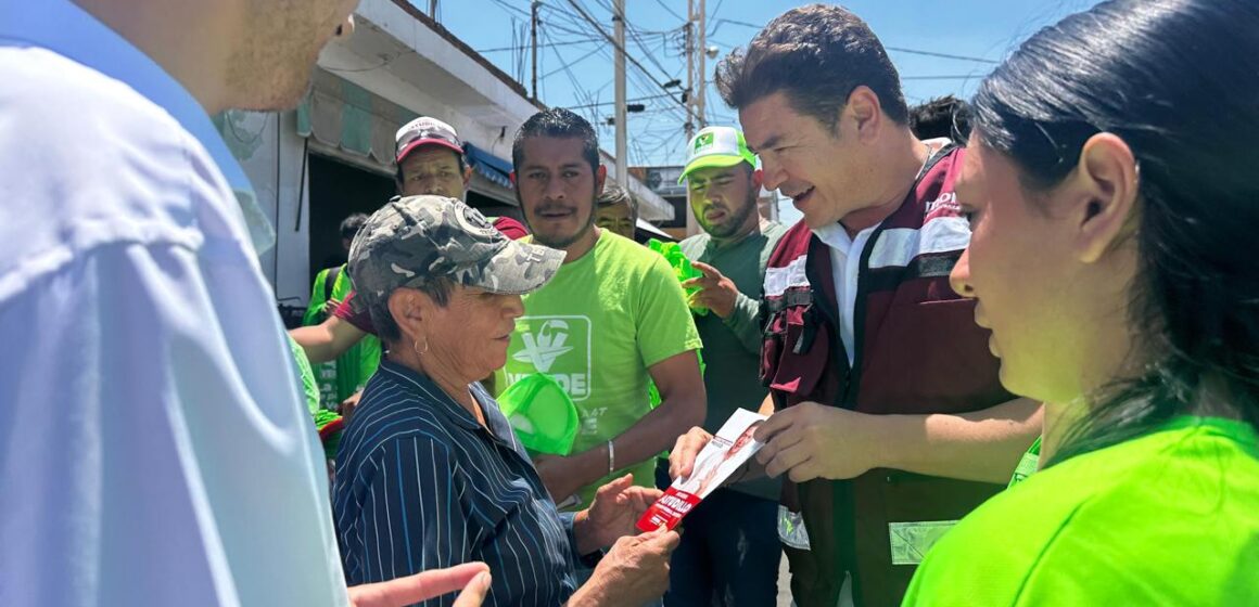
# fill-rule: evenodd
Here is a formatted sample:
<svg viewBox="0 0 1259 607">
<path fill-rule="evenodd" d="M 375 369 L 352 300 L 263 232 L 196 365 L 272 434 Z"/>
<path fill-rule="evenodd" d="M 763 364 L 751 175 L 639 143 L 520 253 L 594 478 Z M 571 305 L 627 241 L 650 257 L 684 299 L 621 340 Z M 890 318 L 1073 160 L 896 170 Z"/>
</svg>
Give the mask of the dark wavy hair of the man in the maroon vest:
<svg viewBox="0 0 1259 607">
<path fill-rule="evenodd" d="M 728 106 L 743 108 L 782 92 L 793 109 L 831 129 L 860 85 L 879 96 L 889 118 L 908 122 L 900 75 L 883 43 L 852 13 L 822 4 L 778 15 L 747 50 L 735 49 L 716 68 L 716 87 Z"/>
</svg>

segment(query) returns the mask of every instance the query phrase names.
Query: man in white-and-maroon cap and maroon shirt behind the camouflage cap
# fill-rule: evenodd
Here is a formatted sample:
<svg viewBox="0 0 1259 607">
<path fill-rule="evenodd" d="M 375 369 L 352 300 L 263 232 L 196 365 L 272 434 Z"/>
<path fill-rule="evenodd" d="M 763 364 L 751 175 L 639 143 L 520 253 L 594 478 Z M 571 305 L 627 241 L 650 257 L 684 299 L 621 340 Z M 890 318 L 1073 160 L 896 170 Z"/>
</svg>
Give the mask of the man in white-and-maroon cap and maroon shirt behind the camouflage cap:
<svg viewBox="0 0 1259 607">
<path fill-rule="evenodd" d="M 403 196 L 463 200 L 472 167 L 463 158 L 463 142 L 453 127 L 427 116 L 415 118 L 398 129 L 397 143 L 398 173 L 394 177 Z M 511 217 L 496 217 L 494 226 L 512 240 L 529 234 Z M 322 323 L 290 331 L 312 363 L 335 359 L 369 333 L 375 333 L 371 317 L 358 305 L 354 292 Z M 342 401 L 342 415 L 349 415 L 358 402 L 358 393 Z"/>
</svg>

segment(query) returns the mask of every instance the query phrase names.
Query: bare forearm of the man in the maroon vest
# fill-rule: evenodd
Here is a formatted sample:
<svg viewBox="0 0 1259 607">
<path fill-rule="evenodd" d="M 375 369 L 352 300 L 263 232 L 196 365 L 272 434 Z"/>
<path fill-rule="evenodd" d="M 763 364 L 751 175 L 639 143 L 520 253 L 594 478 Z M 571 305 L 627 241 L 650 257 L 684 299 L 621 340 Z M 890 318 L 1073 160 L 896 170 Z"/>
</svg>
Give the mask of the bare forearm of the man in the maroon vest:
<svg viewBox="0 0 1259 607">
<path fill-rule="evenodd" d="M 1017 398 L 961 415 L 866 416 L 879 466 L 1005 483 L 1041 430 L 1040 403 Z"/>
</svg>

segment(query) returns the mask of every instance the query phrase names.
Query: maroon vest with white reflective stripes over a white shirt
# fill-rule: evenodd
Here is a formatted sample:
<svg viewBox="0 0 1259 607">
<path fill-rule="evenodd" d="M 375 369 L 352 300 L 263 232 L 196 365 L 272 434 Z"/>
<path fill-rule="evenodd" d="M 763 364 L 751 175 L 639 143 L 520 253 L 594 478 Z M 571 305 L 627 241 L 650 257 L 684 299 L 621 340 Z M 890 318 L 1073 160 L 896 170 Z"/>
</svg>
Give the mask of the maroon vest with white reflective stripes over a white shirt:
<svg viewBox="0 0 1259 607">
<path fill-rule="evenodd" d="M 949 287 L 969 241 L 953 194 L 964 153 L 937 152 L 860 251 L 851 367 L 827 245 L 803 222 L 778 243 L 765 270 L 760 369 L 777 408 L 815 401 L 876 415 L 961 413 L 1012 398 L 974 302 Z M 900 604 L 917 564 L 894 562 L 889 524 L 957 520 L 1001 489 L 890 469 L 786 485 L 784 503 L 801 510 L 811 542 L 810 552 L 787 550 L 802 607 L 836 604 L 845 572 L 857 606 Z"/>
</svg>

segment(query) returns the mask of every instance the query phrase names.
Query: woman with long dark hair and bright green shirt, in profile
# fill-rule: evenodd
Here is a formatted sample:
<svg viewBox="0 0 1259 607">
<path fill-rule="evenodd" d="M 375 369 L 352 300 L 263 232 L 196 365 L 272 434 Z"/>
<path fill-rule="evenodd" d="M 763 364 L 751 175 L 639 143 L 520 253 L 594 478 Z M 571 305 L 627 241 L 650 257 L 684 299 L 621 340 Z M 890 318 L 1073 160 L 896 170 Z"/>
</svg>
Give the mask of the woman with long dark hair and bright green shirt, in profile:
<svg viewBox="0 0 1259 607">
<path fill-rule="evenodd" d="M 973 109 L 953 287 L 1040 470 L 905 604 L 1259 604 L 1259 3 L 1100 4 Z"/>
</svg>

